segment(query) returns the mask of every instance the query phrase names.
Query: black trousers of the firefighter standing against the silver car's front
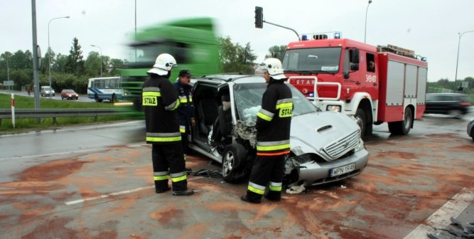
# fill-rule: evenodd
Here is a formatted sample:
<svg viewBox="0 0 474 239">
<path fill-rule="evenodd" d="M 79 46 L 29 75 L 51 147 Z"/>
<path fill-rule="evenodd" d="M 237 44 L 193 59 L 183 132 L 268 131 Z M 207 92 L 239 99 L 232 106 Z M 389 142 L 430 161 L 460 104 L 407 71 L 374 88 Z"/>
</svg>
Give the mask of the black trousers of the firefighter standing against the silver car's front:
<svg viewBox="0 0 474 239">
<path fill-rule="evenodd" d="M 252 166 L 247 198 L 249 201 L 260 201 L 264 196 L 266 186 L 269 189 L 266 198 L 279 201 L 281 198 L 281 183 L 284 176 L 285 155 L 257 156 Z"/>
</svg>

